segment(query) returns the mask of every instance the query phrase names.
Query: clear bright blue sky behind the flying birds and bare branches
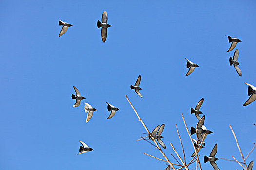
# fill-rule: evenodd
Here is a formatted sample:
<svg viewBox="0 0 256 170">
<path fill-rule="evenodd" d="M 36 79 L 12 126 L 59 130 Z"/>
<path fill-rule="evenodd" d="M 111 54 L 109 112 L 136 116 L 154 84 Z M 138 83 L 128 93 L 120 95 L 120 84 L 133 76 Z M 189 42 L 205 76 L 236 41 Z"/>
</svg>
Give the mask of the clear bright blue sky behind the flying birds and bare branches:
<svg viewBox="0 0 256 170">
<path fill-rule="evenodd" d="M 248 99 L 244 82 L 256 86 L 255 8 L 252 0 L 1 1 L 0 169 L 163 170 L 163 162 L 143 155 L 161 154 L 135 141 L 145 130 L 125 95 L 150 130 L 165 123 L 170 159 L 169 142 L 182 151 L 175 123 L 187 157 L 193 153 L 181 113 L 195 127 L 190 108 L 204 97 L 205 126 L 214 133 L 200 151 L 201 162 L 215 143 L 217 157 L 241 160 L 229 124 L 246 156 L 256 142 L 256 102 L 242 106 Z M 96 26 L 103 11 L 112 25 L 106 43 Z M 60 38 L 58 19 L 74 25 Z M 236 46 L 242 77 L 229 66 L 236 48 L 226 52 L 224 35 L 242 40 Z M 188 77 L 184 57 L 200 66 Z M 138 75 L 143 99 L 130 90 Z M 73 85 L 86 97 L 77 108 Z M 97 108 L 88 123 L 83 102 Z M 120 109 L 109 120 L 105 102 Z M 79 140 L 94 151 L 77 155 Z"/>
</svg>

